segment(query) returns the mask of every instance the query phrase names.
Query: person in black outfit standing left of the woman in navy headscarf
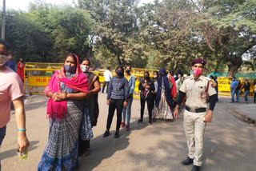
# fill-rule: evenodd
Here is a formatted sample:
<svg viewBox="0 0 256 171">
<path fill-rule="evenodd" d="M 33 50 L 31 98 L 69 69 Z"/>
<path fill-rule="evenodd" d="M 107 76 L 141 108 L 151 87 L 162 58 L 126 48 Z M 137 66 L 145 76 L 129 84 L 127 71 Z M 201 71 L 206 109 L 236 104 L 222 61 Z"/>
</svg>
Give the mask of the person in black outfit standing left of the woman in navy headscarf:
<svg viewBox="0 0 256 171">
<path fill-rule="evenodd" d="M 143 115 L 145 109 L 145 103 L 149 111 L 149 125 L 152 125 L 152 110 L 154 109 L 154 95 L 151 91 L 154 91 L 154 82 L 150 80 L 149 72 L 144 73 L 144 79 L 139 83 L 138 89 L 141 90 L 141 118 L 139 123 L 143 122 Z"/>
</svg>

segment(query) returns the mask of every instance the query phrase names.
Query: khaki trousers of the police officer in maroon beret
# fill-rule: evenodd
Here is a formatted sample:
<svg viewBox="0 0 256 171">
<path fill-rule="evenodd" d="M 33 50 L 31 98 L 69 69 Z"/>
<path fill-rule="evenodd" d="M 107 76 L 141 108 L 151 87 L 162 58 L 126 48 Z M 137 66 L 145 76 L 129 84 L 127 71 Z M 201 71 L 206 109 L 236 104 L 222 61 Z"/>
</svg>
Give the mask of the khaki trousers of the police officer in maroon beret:
<svg viewBox="0 0 256 171">
<path fill-rule="evenodd" d="M 202 165 L 203 137 L 206 129 L 206 112 L 191 113 L 184 111 L 184 130 L 186 133 L 189 157 L 194 159 L 194 165 Z"/>
</svg>

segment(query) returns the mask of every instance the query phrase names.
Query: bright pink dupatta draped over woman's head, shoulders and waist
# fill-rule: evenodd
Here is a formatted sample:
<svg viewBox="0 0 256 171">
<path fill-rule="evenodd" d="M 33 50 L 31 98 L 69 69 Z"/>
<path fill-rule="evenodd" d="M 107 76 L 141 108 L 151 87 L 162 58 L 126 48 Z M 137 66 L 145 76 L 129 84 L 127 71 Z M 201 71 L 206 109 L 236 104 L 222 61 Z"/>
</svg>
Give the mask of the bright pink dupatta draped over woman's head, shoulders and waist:
<svg viewBox="0 0 256 171">
<path fill-rule="evenodd" d="M 88 79 L 80 69 L 78 56 L 75 54 L 74 56 L 77 60 L 77 69 L 74 77 L 66 78 L 64 66 L 62 67 L 62 70 L 55 71 L 55 74 L 52 78 L 50 78 L 50 81 L 46 86 L 46 95 L 50 92 L 62 93 L 62 90 L 60 89 L 60 82 L 63 82 L 70 89 L 75 89 L 83 93 L 88 92 Z M 56 102 L 52 98 L 49 98 L 47 104 L 47 114 L 50 119 L 53 119 L 53 117 L 56 117 L 59 120 L 66 119 L 66 100 Z"/>
</svg>

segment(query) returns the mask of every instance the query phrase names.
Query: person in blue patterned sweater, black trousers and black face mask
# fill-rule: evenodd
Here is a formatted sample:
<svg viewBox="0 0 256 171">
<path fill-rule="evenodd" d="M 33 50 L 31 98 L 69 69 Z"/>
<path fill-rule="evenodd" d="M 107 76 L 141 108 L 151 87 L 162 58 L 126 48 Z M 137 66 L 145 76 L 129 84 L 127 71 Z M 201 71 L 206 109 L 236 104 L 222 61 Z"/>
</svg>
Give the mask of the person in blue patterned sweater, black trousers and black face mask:
<svg viewBox="0 0 256 171">
<path fill-rule="evenodd" d="M 107 91 L 106 104 L 109 105 L 109 114 L 106 122 L 106 131 L 103 137 L 110 135 L 110 126 L 114 117 L 114 111 L 117 109 L 117 127 L 114 134 L 115 138 L 120 137 L 119 129 L 122 122 L 122 109 L 127 106 L 129 86 L 128 81 L 124 77 L 124 70 L 122 66 L 118 66 L 115 70 L 117 76 L 110 81 L 109 89 Z"/>
</svg>

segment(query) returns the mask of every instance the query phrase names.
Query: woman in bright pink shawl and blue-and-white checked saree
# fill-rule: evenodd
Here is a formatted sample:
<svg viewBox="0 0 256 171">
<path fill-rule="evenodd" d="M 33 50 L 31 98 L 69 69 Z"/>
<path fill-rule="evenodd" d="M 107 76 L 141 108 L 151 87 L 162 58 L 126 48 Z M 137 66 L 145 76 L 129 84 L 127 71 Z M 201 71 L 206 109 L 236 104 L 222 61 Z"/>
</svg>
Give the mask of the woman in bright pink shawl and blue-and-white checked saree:
<svg viewBox="0 0 256 171">
<path fill-rule="evenodd" d="M 78 139 L 93 137 L 88 108 L 84 101 L 88 80 L 80 69 L 78 57 L 68 54 L 62 70 L 55 72 L 46 86 L 50 97 L 47 117 L 50 133 L 38 171 L 75 170 L 78 167 Z M 85 117 L 83 117 L 85 116 Z M 80 125 L 83 130 L 79 135 Z"/>
</svg>

